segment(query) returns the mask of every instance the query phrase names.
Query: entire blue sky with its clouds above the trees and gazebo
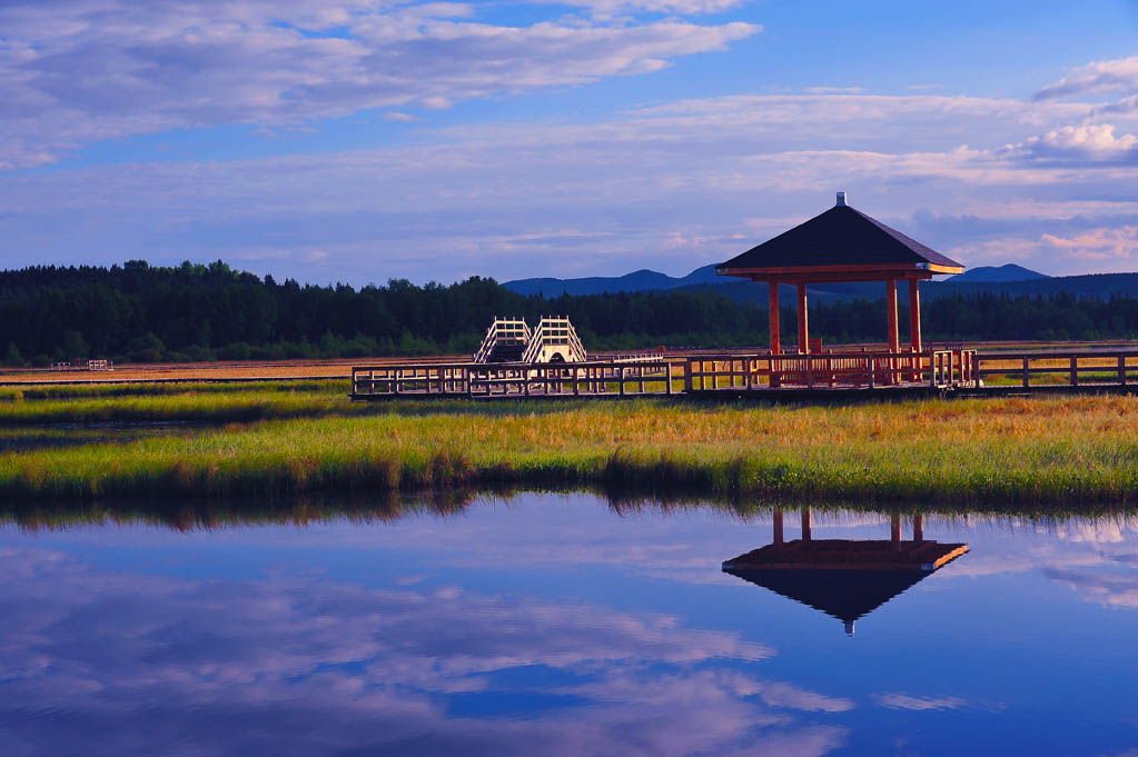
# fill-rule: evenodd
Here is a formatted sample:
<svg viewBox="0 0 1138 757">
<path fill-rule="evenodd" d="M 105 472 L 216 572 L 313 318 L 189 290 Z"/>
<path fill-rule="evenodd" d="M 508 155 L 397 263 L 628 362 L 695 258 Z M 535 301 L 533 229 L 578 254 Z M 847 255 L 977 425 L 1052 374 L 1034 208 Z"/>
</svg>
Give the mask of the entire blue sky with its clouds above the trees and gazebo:
<svg viewBox="0 0 1138 757">
<path fill-rule="evenodd" d="M 851 203 L 1138 271 L 1138 2 L 8 0 L 0 266 L 683 274 Z"/>
</svg>

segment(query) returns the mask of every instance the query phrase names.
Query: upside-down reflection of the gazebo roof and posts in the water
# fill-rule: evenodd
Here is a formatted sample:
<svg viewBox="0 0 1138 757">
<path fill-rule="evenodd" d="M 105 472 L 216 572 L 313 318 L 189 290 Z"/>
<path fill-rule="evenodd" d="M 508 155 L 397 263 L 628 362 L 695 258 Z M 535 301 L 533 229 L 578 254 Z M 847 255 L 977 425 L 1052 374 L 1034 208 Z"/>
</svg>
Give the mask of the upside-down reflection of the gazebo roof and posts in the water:
<svg viewBox="0 0 1138 757">
<path fill-rule="evenodd" d="M 925 540 L 924 518 L 913 515 L 913 539 L 901 539 L 901 516 L 891 518 L 890 539 L 811 538 L 810 508 L 802 508 L 802 536 L 783 539 L 783 511 L 774 514 L 774 542 L 723 564 L 726 573 L 853 623 L 968 551 L 967 544 Z"/>
</svg>

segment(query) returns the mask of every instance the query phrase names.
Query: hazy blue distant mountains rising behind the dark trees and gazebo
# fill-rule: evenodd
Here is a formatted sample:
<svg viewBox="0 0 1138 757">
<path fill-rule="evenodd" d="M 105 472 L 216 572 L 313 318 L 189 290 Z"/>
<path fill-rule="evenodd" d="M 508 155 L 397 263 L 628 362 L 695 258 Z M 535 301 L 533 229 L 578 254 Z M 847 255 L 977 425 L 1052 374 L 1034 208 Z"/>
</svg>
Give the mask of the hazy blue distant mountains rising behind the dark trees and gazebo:
<svg viewBox="0 0 1138 757">
<path fill-rule="evenodd" d="M 520 278 L 503 284 L 519 294 L 542 294 L 546 298 L 566 294 L 604 294 L 611 292 L 646 292 L 710 290 L 733 300 L 766 302 L 766 288 L 729 276 L 718 276 L 715 266 L 696 268 L 686 276 L 669 276 L 655 271 L 635 271 L 624 276 L 589 276 L 587 278 Z M 814 284 L 814 298 L 849 300 L 880 299 L 884 297 L 883 283 Z M 923 298 L 937 298 L 973 292 L 1017 294 L 1054 294 L 1067 292 L 1077 297 L 1106 299 L 1113 294 L 1138 298 L 1138 273 L 1087 274 L 1081 276 L 1048 276 L 1046 274 L 1007 264 L 980 266 L 945 281 L 931 281 L 921 288 Z M 905 288 L 900 291 L 905 299 Z M 789 302 L 791 288 L 783 288 L 783 300 Z"/>
</svg>

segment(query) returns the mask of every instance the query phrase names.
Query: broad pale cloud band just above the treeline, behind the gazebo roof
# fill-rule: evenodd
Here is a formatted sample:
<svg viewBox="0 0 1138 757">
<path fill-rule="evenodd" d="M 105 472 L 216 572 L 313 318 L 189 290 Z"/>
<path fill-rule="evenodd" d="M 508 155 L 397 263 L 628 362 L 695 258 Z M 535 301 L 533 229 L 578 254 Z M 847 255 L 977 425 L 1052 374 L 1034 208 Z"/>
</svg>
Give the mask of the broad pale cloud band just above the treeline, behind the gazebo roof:
<svg viewBox="0 0 1138 757">
<path fill-rule="evenodd" d="M 224 257 L 321 282 L 684 274 L 805 221 L 842 189 L 965 264 L 1085 273 L 1091 258 L 1041 236 L 1138 223 L 1136 166 L 1119 158 L 1133 136 L 1067 126 L 1087 113 L 945 95 L 734 95 L 587 124 L 419 130 L 382 149 L 9 176 L 0 265 L 38 250 L 66 263 Z M 312 249 L 328 252 L 319 266 Z"/>
</svg>

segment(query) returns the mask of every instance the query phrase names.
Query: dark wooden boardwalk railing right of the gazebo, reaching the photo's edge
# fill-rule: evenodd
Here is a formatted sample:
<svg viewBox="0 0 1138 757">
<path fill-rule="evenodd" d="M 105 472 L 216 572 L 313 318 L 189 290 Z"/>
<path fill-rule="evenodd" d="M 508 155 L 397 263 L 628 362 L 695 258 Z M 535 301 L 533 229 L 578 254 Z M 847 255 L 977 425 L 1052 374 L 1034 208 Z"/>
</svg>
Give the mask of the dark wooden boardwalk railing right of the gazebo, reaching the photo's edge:
<svg viewBox="0 0 1138 757">
<path fill-rule="evenodd" d="M 981 352 L 978 374 L 990 385 L 1127 386 L 1138 383 L 1138 350 Z"/>
</svg>

